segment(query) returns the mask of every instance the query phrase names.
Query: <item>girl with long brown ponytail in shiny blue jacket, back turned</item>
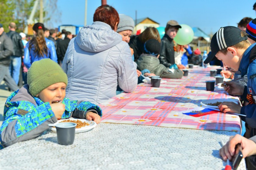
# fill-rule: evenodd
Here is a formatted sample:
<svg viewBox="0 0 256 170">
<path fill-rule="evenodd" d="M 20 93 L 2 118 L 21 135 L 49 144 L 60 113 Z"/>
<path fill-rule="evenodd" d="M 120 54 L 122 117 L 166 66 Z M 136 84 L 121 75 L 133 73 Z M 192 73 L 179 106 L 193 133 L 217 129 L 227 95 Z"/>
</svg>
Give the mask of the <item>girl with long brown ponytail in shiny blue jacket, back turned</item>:
<svg viewBox="0 0 256 170">
<path fill-rule="evenodd" d="M 34 37 L 27 43 L 24 64 L 29 69 L 34 61 L 50 58 L 57 63 L 54 42 L 44 37 L 44 24 L 37 22 L 33 26 Z"/>
</svg>

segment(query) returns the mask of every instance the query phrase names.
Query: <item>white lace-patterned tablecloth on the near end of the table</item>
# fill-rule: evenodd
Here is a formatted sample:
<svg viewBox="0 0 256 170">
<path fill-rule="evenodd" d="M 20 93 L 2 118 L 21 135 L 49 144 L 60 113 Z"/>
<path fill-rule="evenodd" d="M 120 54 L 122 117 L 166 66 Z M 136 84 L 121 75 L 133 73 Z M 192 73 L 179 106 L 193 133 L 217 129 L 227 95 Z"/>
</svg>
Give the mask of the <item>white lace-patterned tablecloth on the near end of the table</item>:
<svg viewBox="0 0 256 170">
<path fill-rule="evenodd" d="M 128 124 L 98 124 L 59 145 L 46 131 L 36 139 L 0 151 L 0 169 L 224 169 L 219 141 L 232 131 L 208 131 Z M 244 159 L 238 169 L 245 169 Z"/>
</svg>

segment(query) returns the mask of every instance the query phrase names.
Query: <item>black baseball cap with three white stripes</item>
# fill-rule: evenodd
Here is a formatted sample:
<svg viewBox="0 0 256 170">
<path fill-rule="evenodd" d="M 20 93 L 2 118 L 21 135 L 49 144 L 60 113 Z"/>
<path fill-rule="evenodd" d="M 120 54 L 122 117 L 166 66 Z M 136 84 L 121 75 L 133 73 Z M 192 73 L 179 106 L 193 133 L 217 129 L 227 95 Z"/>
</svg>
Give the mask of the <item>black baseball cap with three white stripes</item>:
<svg viewBox="0 0 256 170">
<path fill-rule="evenodd" d="M 247 36 L 241 36 L 241 30 L 234 26 L 221 27 L 212 37 L 211 40 L 211 51 L 204 60 L 204 64 L 210 63 L 210 61 L 215 60 L 215 55 L 219 50 L 233 46 L 243 40 L 247 40 Z"/>
</svg>

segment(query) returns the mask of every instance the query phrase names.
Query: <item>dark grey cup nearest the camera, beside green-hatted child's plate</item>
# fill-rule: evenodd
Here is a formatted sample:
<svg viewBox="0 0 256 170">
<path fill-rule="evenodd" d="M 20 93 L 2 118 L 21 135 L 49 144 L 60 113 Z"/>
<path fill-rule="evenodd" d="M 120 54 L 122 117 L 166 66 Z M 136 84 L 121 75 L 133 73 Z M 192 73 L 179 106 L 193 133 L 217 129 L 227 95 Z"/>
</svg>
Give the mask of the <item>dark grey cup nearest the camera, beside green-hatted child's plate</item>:
<svg viewBox="0 0 256 170">
<path fill-rule="evenodd" d="M 58 143 L 61 145 L 70 145 L 74 143 L 76 123 L 63 122 L 56 126 Z"/>
</svg>

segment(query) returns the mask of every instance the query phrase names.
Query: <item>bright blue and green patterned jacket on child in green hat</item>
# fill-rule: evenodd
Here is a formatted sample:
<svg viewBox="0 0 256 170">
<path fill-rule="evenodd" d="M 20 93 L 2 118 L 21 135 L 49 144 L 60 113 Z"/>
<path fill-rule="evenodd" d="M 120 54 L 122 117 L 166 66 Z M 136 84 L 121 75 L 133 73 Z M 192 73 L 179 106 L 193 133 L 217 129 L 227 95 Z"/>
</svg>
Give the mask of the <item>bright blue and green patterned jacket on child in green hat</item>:
<svg viewBox="0 0 256 170">
<path fill-rule="evenodd" d="M 4 121 L 0 127 L 0 149 L 16 142 L 36 138 L 47 130 L 48 124 L 56 123 L 49 102 L 44 103 L 28 92 L 25 85 L 13 92 L 6 100 L 4 107 Z M 101 108 L 88 101 L 76 101 L 64 98 L 65 111 L 62 119 L 78 117 L 85 119 L 87 112 L 92 111 L 102 116 Z"/>
</svg>

